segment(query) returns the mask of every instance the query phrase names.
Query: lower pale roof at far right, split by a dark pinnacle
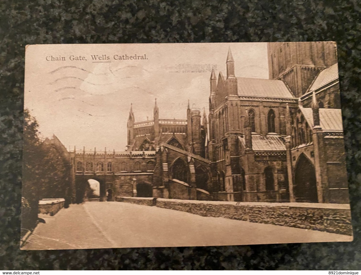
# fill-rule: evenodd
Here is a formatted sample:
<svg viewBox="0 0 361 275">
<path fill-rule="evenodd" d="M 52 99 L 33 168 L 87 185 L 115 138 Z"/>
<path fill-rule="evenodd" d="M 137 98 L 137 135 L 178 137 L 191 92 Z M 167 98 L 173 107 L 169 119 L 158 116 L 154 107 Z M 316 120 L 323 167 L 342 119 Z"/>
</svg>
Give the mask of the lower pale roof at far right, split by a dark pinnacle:
<svg viewBox="0 0 361 275">
<path fill-rule="evenodd" d="M 308 125 L 313 127 L 312 108 L 300 107 Z M 341 109 L 320 108 L 319 122 L 323 131 L 343 131 Z"/>
</svg>

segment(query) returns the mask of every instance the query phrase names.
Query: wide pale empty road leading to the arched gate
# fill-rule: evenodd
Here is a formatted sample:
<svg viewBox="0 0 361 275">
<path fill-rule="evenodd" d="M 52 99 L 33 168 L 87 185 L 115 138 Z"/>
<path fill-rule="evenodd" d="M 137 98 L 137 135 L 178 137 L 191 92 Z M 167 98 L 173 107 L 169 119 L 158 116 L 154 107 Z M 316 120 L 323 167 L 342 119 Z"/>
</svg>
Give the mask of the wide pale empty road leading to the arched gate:
<svg viewBox="0 0 361 275">
<path fill-rule="evenodd" d="M 250 223 L 125 202 L 86 202 L 45 218 L 22 249 L 350 241 L 350 236 Z"/>
</svg>

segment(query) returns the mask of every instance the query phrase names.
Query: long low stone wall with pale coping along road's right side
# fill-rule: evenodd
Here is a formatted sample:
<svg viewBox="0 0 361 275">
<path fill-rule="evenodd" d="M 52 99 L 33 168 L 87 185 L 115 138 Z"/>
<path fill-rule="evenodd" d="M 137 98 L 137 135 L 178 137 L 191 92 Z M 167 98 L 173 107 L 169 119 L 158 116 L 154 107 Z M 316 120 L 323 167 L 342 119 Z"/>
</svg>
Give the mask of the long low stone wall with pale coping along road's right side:
<svg viewBox="0 0 361 275">
<path fill-rule="evenodd" d="M 143 200 L 150 199 L 138 198 L 138 200 L 132 200 L 131 203 L 139 202 L 139 204 L 149 205 L 149 202 Z M 157 207 L 185 211 L 204 217 L 222 217 L 352 235 L 351 210 L 346 204 L 194 201 L 165 198 L 154 200 L 156 201 L 153 203 Z"/>
</svg>

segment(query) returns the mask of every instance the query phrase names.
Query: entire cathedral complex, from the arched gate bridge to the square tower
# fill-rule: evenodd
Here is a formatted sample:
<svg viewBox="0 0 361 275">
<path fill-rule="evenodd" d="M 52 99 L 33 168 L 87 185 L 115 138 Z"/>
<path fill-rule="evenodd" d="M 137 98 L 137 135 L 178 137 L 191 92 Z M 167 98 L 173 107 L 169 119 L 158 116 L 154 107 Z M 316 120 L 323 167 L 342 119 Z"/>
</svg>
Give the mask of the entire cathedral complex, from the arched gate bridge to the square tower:
<svg viewBox="0 0 361 275">
<path fill-rule="evenodd" d="M 70 153 L 77 201 L 145 196 L 247 202 L 348 203 L 336 46 L 269 43 L 269 79 L 243 78 L 229 49 L 212 70 L 208 117 L 127 121 L 125 152 Z M 237 61 L 240 62 L 240 61 Z M 109 195 L 110 194 L 110 195 Z"/>
</svg>

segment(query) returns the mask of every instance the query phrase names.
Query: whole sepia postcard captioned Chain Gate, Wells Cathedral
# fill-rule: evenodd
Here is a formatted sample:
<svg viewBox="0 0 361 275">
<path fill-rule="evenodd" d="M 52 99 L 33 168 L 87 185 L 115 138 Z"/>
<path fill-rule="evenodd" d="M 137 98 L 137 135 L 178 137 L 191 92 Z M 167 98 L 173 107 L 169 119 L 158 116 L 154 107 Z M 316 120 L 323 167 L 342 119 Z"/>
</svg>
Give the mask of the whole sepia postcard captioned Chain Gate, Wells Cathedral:
<svg viewBox="0 0 361 275">
<path fill-rule="evenodd" d="M 334 42 L 27 45 L 21 249 L 351 241 Z"/>
</svg>

